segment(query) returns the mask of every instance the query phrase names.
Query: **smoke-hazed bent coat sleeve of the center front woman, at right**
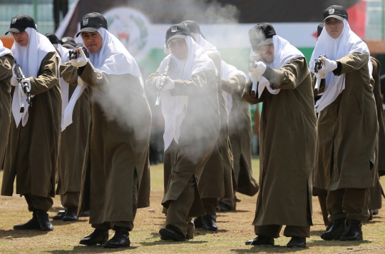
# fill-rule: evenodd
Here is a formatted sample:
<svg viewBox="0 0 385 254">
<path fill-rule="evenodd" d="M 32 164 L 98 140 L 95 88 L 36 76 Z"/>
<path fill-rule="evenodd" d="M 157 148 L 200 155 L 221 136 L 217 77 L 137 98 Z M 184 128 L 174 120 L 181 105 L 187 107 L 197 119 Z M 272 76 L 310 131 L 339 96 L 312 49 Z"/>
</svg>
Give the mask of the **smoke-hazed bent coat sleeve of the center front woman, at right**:
<svg viewBox="0 0 385 254">
<path fill-rule="evenodd" d="M 175 79 L 175 88 L 170 90 L 171 96 L 196 96 L 205 93 L 208 86 L 217 86 L 214 70 L 200 71 L 187 81 Z"/>
</svg>

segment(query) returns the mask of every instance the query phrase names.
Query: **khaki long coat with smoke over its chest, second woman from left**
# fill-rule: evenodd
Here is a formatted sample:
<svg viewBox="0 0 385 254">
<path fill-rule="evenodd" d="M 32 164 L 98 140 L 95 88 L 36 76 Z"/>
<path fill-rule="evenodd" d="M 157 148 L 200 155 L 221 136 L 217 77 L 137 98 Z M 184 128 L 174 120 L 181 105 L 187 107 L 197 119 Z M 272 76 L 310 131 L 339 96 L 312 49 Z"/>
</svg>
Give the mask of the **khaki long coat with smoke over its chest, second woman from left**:
<svg viewBox="0 0 385 254">
<path fill-rule="evenodd" d="M 74 84 L 78 70 L 66 65 L 61 75 Z M 99 73 L 90 62 L 80 77 L 92 88 L 92 105 L 78 214 L 89 209 L 95 224 L 133 221 L 135 208 L 150 205 L 151 113 L 145 92 L 138 77 Z"/>
</svg>

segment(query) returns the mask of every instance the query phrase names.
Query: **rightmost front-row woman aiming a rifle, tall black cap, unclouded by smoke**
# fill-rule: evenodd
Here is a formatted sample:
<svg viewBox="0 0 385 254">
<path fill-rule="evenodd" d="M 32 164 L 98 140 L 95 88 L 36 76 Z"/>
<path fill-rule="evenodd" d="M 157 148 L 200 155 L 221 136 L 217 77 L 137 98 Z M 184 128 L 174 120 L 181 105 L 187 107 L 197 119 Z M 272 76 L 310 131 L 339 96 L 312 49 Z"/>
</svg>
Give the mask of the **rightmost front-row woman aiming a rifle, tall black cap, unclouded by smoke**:
<svg viewBox="0 0 385 254">
<path fill-rule="evenodd" d="M 324 29 L 315 46 L 321 54 L 325 88 L 316 103 L 317 161 L 314 186 L 326 189 L 332 227 L 324 240 L 362 240 L 361 220 L 369 218 L 369 188 L 378 164 L 378 122 L 370 84 L 369 49 L 349 27 L 347 11 L 330 6 L 324 11 Z M 346 229 L 345 220 L 349 219 Z"/>
</svg>

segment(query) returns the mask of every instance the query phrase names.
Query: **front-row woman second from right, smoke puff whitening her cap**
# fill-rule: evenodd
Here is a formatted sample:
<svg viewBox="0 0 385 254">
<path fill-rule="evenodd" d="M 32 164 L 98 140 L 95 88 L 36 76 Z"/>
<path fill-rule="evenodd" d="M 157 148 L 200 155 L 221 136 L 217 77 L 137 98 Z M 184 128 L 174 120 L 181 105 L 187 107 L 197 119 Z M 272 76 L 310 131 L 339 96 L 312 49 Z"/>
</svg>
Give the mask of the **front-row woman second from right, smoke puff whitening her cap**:
<svg viewBox="0 0 385 254">
<path fill-rule="evenodd" d="M 260 191 L 252 223 L 257 238 L 246 244 L 274 245 L 274 238 L 286 225 L 284 235 L 292 238 L 287 247 L 303 248 L 312 225 L 316 148 L 312 77 L 303 54 L 277 36 L 270 24 L 258 24 L 249 36 L 262 61 L 250 73 L 252 82 L 246 83 L 242 97 L 249 103 L 263 104 Z"/>
</svg>

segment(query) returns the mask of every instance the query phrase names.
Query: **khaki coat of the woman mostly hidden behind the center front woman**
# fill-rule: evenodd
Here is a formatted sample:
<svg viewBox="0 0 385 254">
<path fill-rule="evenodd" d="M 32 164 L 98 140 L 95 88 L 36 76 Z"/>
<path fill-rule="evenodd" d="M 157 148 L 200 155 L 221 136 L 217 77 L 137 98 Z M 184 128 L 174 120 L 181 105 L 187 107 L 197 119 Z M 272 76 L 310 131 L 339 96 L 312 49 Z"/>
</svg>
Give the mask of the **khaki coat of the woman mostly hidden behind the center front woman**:
<svg viewBox="0 0 385 254">
<path fill-rule="evenodd" d="M 222 96 L 220 78 L 220 56 L 208 54 L 211 61 L 217 67 L 217 94 L 220 108 L 220 135 L 215 148 L 203 169 L 199 182 L 201 198 L 232 198 L 236 189 L 235 174 L 233 171 L 233 158 L 229 138 L 229 121 L 225 98 Z M 233 186 L 234 184 L 234 186 Z"/>
</svg>

